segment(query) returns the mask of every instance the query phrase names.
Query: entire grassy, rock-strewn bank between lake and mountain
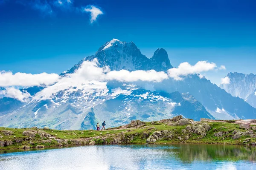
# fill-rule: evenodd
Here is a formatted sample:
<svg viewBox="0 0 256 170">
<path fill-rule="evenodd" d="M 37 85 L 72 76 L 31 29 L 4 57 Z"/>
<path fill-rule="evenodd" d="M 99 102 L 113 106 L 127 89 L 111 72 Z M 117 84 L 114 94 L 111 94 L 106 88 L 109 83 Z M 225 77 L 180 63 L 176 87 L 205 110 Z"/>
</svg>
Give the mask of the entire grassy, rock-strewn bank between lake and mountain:
<svg viewBox="0 0 256 170">
<path fill-rule="evenodd" d="M 29 149 L 93 144 L 256 144 L 255 120 L 195 122 L 176 116 L 154 122 L 96 130 L 52 130 L 47 127 L 16 129 L 0 127 L 0 150 Z"/>
</svg>

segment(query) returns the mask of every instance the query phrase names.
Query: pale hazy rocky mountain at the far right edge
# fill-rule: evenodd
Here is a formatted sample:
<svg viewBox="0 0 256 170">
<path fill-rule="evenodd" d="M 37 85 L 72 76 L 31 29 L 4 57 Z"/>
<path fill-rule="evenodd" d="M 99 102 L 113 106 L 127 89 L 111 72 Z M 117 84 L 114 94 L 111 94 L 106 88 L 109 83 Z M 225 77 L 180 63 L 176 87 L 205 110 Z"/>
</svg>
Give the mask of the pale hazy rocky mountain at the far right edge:
<svg viewBox="0 0 256 170">
<path fill-rule="evenodd" d="M 229 77 L 230 83 L 221 84 L 220 88 L 232 96 L 244 99 L 244 101 L 256 108 L 256 75 L 235 72 L 227 74 L 227 77 Z"/>
</svg>

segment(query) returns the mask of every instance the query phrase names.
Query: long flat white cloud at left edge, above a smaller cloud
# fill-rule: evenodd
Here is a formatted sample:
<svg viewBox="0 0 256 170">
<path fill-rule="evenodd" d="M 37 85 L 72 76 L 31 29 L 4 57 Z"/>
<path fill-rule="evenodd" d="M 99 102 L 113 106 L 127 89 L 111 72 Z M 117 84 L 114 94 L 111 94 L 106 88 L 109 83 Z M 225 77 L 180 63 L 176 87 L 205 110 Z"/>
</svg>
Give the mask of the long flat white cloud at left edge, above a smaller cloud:
<svg viewBox="0 0 256 170">
<path fill-rule="evenodd" d="M 58 74 L 26 74 L 15 73 L 8 71 L 0 71 L 0 86 L 34 86 L 34 85 L 50 85 L 57 82 L 59 79 Z"/>
</svg>

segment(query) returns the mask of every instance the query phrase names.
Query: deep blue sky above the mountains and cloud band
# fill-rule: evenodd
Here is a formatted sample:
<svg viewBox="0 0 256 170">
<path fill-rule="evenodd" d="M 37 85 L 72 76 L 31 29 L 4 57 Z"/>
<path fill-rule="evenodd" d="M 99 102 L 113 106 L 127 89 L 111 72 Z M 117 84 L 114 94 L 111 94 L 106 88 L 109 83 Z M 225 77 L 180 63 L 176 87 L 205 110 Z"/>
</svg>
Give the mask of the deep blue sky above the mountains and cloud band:
<svg viewBox="0 0 256 170">
<path fill-rule="evenodd" d="M 207 73 L 256 74 L 255 0 L 0 0 L 0 70 L 61 73 L 113 38 L 147 57 L 165 48 L 171 64 L 225 65 Z M 91 23 L 87 6 L 100 14 Z"/>
</svg>

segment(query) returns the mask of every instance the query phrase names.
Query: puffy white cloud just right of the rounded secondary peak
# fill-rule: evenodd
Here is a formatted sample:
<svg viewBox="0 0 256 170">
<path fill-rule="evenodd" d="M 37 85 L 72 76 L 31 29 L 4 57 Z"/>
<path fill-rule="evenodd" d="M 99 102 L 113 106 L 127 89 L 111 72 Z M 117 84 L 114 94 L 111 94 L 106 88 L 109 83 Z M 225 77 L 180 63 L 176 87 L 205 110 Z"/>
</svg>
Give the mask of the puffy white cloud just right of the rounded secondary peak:
<svg viewBox="0 0 256 170">
<path fill-rule="evenodd" d="M 183 76 L 189 74 L 200 74 L 204 71 L 210 71 L 216 68 L 216 64 L 213 62 L 199 61 L 195 65 L 190 65 L 188 62 L 180 63 L 178 68 L 170 68 L 167 73 L 169 77 L 174 78 L 175 80 L 182 80 Z"/>
</svg>

